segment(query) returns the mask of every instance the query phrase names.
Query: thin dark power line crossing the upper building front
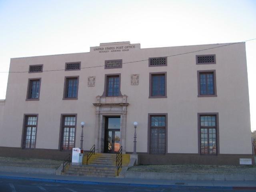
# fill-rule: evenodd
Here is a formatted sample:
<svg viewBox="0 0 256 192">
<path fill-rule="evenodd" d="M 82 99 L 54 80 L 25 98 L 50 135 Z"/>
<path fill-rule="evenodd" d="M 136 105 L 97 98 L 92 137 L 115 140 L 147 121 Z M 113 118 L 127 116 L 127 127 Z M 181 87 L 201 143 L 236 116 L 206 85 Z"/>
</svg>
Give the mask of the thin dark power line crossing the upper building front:
<svg viewBox="0 0 256 192">
<path fill-rule="evenodd" d="M 210 50 L 210 49 L 216 49 L 216 48 L 220 48 L 220 47 L 225 47 L 225 46 L 230 46 L 230 45 L 234 45 L 234 44 L 238 44 L 238 43 L 244 43 L 244 42 L 248 42 L 248 41 L 252 41 L 252 40 L 256 40 L 256 38 L 254 39 L 249 39 L 249 40 L 245 40 L 245 41 L 241 41 L 241 42 L 236 42 L 236 43 L 230 43 L 227 45 L 222 45 L 222 46 L 216 46 L 216 47 L 212 47 L 212 48 L 207 48 L 207 49 L 201 49 L 201 50 L 196 50 L 196 51 L 191 51 L 191 52 L 185 52 L 185 53 L 180 53 L 180 54 L 175 54 L 175 55 L 169 55 L 166 57 L 174 57 L 174 56 L 179 56 L 179 55 L 184 55 L 184 54 L 190 54 L 190 53 L 195 53 L 195 52 L 200 52 L 200 51 L 204 51 L 204 50 Z M 135 63 L 135 62 L 142 62 L 142 61 L 148 61 L 149 59 L 145 59 L 145 60 L 138 60 L 138 61 L 131 61 L 131 62 L 124 62 L 122 64 L 126 64 L 126 63 Z M 81 67 L 81 69 L 87 69 L 87 68 L 95 68 L 95 67 L 104 67 L 105 65 L 99 65 L 99 66 L 91 66 L 91 67 Z M 50 72 L 50 71 L 64 71 L 65 69 L 56 69 L 56 70 L 44 70 L 42 72 Z M 0 73 L 28 73 L 28 71 L 0 71 Z"/>
</svg>

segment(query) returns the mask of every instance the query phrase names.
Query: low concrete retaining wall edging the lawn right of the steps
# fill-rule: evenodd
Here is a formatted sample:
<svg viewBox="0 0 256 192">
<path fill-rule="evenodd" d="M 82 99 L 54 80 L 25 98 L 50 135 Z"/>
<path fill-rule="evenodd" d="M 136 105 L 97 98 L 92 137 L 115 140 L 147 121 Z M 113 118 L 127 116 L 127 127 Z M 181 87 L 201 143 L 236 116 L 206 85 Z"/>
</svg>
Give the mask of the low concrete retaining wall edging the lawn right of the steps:
<svg viewBox="0 0 256 192">
<path fill-rule="evenodd" d="M 256 181 L 256 173 L 156 173 L 126 172 L 125 178 L 166 179 L 166 180 L 210 180 L 210 181 Z"/>
</svg>

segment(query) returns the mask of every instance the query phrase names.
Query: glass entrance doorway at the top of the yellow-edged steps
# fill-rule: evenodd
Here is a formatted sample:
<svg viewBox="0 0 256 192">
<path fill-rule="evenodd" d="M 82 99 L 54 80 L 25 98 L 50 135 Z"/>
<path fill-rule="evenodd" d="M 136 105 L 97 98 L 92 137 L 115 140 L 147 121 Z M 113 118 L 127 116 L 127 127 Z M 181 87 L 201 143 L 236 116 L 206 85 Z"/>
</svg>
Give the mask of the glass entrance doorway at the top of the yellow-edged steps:
<svg viewBox="0 0 256 192">
<path fill-rule="evenodd" d="M 120 148 L 120 116 L 105 118 L 105 153 L 116 153 Z"/>
</svg>

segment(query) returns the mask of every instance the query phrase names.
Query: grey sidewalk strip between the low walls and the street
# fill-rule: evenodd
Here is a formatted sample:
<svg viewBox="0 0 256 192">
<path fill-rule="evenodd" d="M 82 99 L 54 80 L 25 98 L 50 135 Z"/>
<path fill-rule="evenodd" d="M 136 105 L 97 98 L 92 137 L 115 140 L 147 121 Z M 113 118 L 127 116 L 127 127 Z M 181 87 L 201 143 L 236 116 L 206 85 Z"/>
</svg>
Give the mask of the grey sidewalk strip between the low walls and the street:
<svg viewBox="0 0 256 192">
<path fill-rule="evenodd" d="M 132 179 L 132 178 L 96 178 L 85 176 L 61 176 L 49 174 L 24 174 L 0 172 L 0 178 L 38 180 L 43 182 L 65 182 L 78 184 L 110 184 L 110 185 L 136 185 L 136 186 L 197 186 L 207 188 L 241 188 L 253 187 L 256 190 L 255 181 L 192 181 L 192 180 L 156 180 L 156 179 Z"/>
</svg>

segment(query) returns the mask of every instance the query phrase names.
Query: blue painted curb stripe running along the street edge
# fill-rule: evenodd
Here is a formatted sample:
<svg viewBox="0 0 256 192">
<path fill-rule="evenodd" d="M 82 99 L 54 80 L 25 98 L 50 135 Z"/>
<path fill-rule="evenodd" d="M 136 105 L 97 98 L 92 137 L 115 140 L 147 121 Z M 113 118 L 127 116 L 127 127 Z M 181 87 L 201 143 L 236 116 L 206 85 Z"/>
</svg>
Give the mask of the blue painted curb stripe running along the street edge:
<svg viewBox="0 0 256 192">
<path fill-rule="evenodd" d="M 41 179 L 41 178 L 26 178 L 16 176 L 0 176 L 5 179 L 17 179 L 17 180 L 31 180 L 31 181 L 42 181 L 42 182 L 56 182 L 56 183 L 72 183 L 72 184 L 86 184 L 86 185 L 116 185 L 116 186 L 140 186 L 140 187 L 164 187 L 164 188 L 198 188 L 198 189 L 233 189 L 234 187 L 223 187 L 223 186 L 180 186 L 180 185 L 154 185 L 154 184 L 130 184 L 130 183 L 105 183 L 105 182 L 90 182 L 90 181 L 72 181 L 72 180 L 58 180 L 58 179 Z M 239 187 L 236 187 L 239 188 Z M 244 187 L 244 189 L 247 187 Z M 248 187 L 251 188 L 251 187 Z"/>
</svg>

